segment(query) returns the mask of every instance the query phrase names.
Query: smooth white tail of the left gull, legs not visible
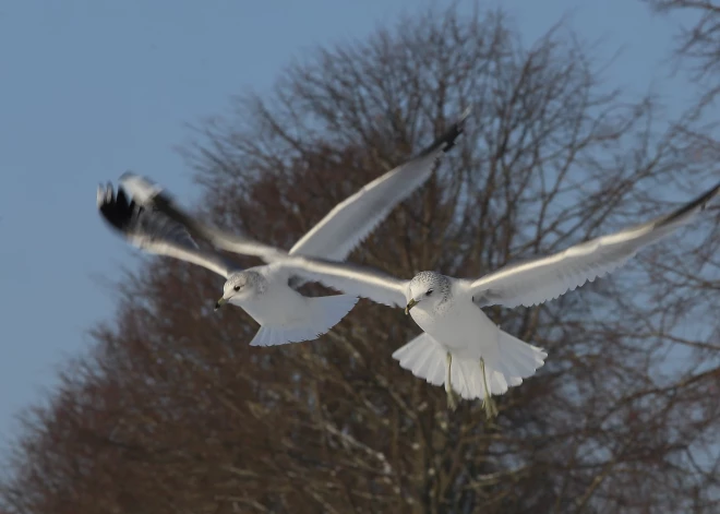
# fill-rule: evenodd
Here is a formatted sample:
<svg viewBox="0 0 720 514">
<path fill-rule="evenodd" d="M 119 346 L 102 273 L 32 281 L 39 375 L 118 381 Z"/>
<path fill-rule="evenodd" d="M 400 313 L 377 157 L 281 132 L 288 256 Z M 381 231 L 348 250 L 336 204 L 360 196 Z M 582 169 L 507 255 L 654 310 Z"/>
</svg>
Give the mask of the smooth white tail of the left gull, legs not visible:
<svg viewBox="0 0 720 514">
<path fill-rule="evenodd" d="M 308 309 L 297 321 L 279 325 L 263 324 L 250 346 L 277 346 L 313 340 L 338 324 L 358 302 L 352 295 L 305 298 Z"/>
</svg>

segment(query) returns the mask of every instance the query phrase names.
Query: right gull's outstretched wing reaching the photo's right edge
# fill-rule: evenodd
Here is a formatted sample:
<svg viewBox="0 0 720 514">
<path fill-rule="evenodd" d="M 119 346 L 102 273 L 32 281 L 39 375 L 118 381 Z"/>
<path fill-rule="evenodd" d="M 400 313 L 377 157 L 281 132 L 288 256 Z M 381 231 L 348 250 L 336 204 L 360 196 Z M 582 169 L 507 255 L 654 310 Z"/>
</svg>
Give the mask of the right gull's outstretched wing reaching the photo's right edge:
<svg viewBox="0 0 720 514">
<path fill-rule="evenodd" d="M 547 258 L 505 266 L 470 284 L 479 306 L 542 303 L 610 273 L 640 249 L 671 235 L 718 195 L 720 183 L 673 213 L 616 234 L 576 244 Z"/>
</svg>

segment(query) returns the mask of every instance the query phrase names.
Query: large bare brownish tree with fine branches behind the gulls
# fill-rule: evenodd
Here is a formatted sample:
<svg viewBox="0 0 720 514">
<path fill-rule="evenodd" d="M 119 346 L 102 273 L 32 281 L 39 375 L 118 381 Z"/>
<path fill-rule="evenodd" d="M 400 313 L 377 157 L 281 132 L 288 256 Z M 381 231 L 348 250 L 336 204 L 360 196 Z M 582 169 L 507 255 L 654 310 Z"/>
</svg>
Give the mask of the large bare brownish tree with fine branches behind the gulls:
<svg viewBox="0 0 720 514">
<path fill-rule="evenodd" d="M 718 8 L 707 16 L 717 27 Z M 717 85 L 709 32 L 679 56 Z M 713 65 L 692 61 L 711 51 Z M 435 9 L 316 51 L 201 127 L 187 151 L 196 213 L 289 249 L 473 105 L 439 172 L 350 261 L 477 276 L 717 182 L 718 143 L 696 116 L 707 92 L 660 123 L 651 98 L 607 87 L 566 26 L 524 46 L 502 12 Z M 492 426 L 480 402 L 448 413 L 442 387 L 391 358 L 419 333 L 400 310 L 361 300 L 316 342 L 251 348 L 242 310 L 212 310 L 217 276 L 154 259 L 118 282 L 92 354 L 26 413 L 0 512 L 718 512 L 718 219 L 709 210 L 556 301 L 490 310 L 549 352 L 496 397 Z"/>
</svg>

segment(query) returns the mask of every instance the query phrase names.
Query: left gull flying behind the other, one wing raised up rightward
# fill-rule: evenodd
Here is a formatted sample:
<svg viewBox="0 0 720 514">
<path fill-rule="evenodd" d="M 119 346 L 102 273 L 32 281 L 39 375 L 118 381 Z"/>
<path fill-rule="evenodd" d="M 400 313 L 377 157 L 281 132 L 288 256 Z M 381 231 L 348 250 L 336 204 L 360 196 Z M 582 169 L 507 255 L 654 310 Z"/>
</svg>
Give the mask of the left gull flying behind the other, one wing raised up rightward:
<svg viewBox="0 0 720 514">
<path fill-rule="evenodd" d="M 389 212 L 422 186 L 455 145 L 470 110 L 463 115 L 415 158 L 387 171 L 338 204 L 289 252 L 243 238 L 249 255 L 323 255 L 343 261 Z M 132 200 L 130 200 L 132 196 Z M 148 179 L 132 172 L 112 184 L 100 186 L 98 210 L 112 229 L 131 244 L 151 253 L 171 256 L 206 267 L 226 278 L 215 309 L 226 303 L 243 308 L 260 325 L 251 346 L 274 346 L 312 340 L 325 334 L 352 310 L 355 295 L 310 298 L 295 288 L 303 283 L 277 263 L 242 270 L 219 253 L 199 248 L 187 228 L 161 213 L 154 202 L 169 194 Z M 173 203 L 175 204 L 175 203 Z M 180 207 L 178 207 L 180 208 Z"/>
</svg>

